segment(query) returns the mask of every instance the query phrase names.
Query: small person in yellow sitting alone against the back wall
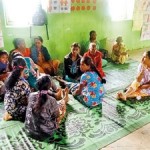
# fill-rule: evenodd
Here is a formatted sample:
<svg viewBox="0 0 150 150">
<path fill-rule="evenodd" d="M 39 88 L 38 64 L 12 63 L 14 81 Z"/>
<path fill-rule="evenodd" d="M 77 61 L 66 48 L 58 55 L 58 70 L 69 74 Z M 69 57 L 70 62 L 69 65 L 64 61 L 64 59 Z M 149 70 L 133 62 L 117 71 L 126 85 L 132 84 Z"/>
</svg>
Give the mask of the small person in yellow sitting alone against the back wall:
<svg viewBox="0 0 150 150">
<path fill-rule="evenodd" d="M 119 36 L 112 48 L 112 60 L 117 64 L 124 64 L 127 59 L 128 53 L 126 52 L 122 37 Z"/>
</svg>

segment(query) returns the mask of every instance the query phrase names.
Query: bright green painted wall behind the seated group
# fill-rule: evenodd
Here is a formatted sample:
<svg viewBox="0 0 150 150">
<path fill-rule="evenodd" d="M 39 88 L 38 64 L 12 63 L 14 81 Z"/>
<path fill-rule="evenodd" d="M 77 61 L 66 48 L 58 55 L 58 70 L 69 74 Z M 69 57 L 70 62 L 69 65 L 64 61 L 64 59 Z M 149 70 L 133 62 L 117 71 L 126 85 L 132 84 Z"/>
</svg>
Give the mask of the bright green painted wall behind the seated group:
<svg viewBox="0 0 150 150">
<path fill-rule="evenodd" d="M 96 30 L 97 39 L 101 47 L 105 47 L 106 38 L 115 39 L 122 35 L 124 43 L 130 50 L 150 47 L 150 41 L 140 41 L 141 31 L 132 31 L 132 21 L 112 22 L 108 15 L 107 0 L 97 0 L 96 11 L 74 11 L 67 14 L 48 14 L 49 37 L 47 40 L 45 26 L 33 27 L 32 35 L 41 35 L 44 45 L 48 48 L 53 58 L 63 60 L 64 55 L 70 52 L 70 45 L 79 42 L 82 51 L 89 38 L 89 31 Z M 31 46 L 29 28 L 6 28 L 4 23 L 2 0 L 0 0 L 0 18 L 4 36 L 5 49 L 13 49 L 12 41 L 22 37 L 27 47 Z"/>
</svg>

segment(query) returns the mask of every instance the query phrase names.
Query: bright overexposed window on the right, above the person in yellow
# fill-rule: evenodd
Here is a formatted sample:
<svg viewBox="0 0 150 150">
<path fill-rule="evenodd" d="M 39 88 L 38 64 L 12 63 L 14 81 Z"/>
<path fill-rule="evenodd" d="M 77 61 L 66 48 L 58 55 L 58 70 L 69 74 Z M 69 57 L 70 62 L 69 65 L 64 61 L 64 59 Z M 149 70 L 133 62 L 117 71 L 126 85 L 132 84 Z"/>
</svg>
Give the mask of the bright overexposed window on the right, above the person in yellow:
<svg viewBox="0 0 150 150">
<path fill-rule="evenodd" d="M 113 21 L 131 20 L 134 0 L 108 0 L 109 13 Z"/>
</svg>

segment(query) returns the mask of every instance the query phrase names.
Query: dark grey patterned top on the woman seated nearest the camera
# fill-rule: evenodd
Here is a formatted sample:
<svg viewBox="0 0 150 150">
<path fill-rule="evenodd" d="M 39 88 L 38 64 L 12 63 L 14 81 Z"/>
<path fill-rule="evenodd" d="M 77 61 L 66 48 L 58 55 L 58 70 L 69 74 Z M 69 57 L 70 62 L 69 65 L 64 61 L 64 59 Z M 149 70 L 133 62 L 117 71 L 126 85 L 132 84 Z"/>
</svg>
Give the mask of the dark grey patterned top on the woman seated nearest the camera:
<svg viewBox="0 0 150 150">
<path fill-rule="evenodd" d="M 59 116 L 59 109 L 55 98 L 45 95 L 47 100 L 39 109 L 40 111 L 35 111 L 33 108 L 35 108 L 38 96 L 39 92 L 35 92 L 31 93 L 29 97 L 25 126 L 32 136 L 41 137 L 43 135 L 44 137 L 46 135 L 52 135 L 58 128 L 56 118 Z"/>
</svg>

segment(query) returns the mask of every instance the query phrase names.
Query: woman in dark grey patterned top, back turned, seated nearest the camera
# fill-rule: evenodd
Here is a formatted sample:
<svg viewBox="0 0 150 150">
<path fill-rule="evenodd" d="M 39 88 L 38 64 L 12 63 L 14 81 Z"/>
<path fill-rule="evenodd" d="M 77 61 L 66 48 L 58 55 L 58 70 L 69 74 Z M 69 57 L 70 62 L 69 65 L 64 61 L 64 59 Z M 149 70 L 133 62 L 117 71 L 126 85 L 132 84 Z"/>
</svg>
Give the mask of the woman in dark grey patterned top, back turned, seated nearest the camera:
<svg viewBox="0 0 150 150">
<path fill-rule="evenodd" d="M 50 87 L 50 76 L 41 76 L 37 80 L 38 91 L 31 93 L 28 98 L 25 129 L 30 136 L 37 139 L 53 135 L 66 113 L 68 89 L 65 89 L 63 99 L 56 101 L 51 96 Z"/>
</svg>

